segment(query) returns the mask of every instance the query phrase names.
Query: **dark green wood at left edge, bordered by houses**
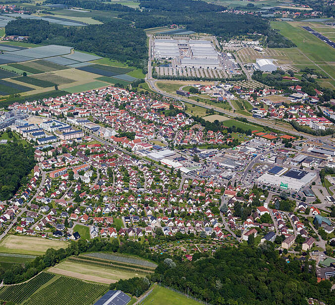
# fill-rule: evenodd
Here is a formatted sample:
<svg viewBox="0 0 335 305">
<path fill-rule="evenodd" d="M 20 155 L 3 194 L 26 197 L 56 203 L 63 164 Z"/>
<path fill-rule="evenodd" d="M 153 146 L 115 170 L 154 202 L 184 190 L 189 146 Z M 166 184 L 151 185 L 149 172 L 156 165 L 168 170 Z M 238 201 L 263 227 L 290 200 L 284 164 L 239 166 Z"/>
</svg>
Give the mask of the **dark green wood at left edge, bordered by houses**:
<svg viewBox="0 0 335 305">
<path fill-rule="evenodd" d="M 17 142 L 0 146 L 0 200 L 9 200 L 35 165 L 34 148 Z"/>
</svg>

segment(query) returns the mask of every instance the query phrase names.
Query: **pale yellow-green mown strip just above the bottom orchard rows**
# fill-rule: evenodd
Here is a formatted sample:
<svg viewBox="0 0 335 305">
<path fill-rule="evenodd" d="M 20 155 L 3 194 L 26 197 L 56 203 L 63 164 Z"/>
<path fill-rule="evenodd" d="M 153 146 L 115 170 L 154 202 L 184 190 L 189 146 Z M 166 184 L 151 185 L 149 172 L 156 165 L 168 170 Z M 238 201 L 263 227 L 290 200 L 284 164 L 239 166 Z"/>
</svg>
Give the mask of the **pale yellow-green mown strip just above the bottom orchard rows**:
<svg viewBox="0 0 335 305">
<path fill-rule="evenodd" d="M 72 274 L 69 276 L 72 277 L 78 277 L 82 278 L 82 276 L 95 276 L 102 279 L 108 279 L 110 283 L 114 281 L 118 281 L 119 279 L 129 279 L 134 276 L 144 276 L 143 274 L 138 274 L 135 272 L 128 272 L 123 270 L 117 270 L 112 268 L 105 268 L 103 266 L 96 266 L 94 264 L 84 264 L 84 263 L 77 263 L 73 261 L 63 261 L 56 265 L 55 267 L 49 269 L 50 272 L 58 273 L 58 270 L 62 270 L 65 272 L 74 272 L 76 274 Z M 64 272 L 61 274 L 66 275 Z M 94 281 L 98 281 L 98 279 L 95 279 Z M 102 280 L 99 280 L 98 282 L 103 282 Z M 104 281 L 106 282 L 106 281 Z"/>
</svg>

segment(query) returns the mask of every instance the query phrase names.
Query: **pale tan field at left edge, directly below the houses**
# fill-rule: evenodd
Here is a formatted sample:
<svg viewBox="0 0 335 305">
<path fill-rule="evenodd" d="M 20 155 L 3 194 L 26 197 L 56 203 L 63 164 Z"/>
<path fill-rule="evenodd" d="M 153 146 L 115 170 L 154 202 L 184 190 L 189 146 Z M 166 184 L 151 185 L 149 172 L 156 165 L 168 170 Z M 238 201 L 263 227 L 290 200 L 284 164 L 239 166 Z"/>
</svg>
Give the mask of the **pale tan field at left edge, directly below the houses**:
<svg viewBox="0 0 335 305">
<path fill-rule="evenodd" d="M 39 237 L 7 235 L 0 242 L 0 252 L 22 254 L 44 254 L 49 248 L 66 248 L 67 242 Z"/>
</svg>

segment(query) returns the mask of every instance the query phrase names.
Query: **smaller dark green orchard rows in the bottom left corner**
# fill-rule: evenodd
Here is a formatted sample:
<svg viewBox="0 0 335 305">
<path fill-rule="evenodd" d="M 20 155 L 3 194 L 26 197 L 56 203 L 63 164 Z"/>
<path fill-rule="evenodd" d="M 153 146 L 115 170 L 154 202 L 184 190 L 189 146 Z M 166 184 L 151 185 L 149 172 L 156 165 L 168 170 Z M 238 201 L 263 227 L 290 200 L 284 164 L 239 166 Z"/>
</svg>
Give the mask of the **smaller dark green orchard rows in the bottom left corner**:
<svg viewBox="0 0 335 305">
<path fill-rule="evenodd" d="M 54 276 L 54 274 L 42 272 L 27 283 L 3 286 L 0 289 L 0 300 L 20 304 L 28 299 L 42 285 L 50 281 Z"/>
</svg>

